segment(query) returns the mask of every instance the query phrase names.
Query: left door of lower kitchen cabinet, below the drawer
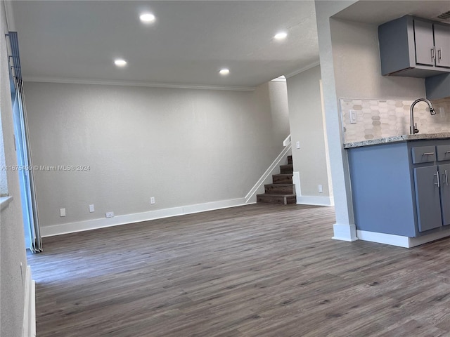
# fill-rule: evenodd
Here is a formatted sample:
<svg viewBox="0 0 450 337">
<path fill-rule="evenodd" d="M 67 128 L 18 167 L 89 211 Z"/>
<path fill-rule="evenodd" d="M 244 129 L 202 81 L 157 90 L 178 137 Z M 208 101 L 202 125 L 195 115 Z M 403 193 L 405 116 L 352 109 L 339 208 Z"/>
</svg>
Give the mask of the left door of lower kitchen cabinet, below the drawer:
<svg viewBox="0 0 450 337">
<path fill-rule="evenodd" d="M 441 202 L 439 187 L 437 187 L 438 175 L 437 166 L 414 169 L 419 232 L 442 226 Z"/>
</svg>

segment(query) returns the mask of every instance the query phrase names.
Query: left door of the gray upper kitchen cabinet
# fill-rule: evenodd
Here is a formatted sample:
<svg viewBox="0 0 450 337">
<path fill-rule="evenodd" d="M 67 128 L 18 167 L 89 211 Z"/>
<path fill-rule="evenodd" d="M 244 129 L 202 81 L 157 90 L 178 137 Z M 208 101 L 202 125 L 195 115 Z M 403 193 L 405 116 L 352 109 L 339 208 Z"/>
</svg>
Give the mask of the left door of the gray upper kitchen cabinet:
<svg viewBox="0 0 450 337">
<path fill-rule="evenodd" d="M 416 44 L 416 63 L 435 65 L 432 23 L 414 20 L 414 42 Z"/>
</svg>

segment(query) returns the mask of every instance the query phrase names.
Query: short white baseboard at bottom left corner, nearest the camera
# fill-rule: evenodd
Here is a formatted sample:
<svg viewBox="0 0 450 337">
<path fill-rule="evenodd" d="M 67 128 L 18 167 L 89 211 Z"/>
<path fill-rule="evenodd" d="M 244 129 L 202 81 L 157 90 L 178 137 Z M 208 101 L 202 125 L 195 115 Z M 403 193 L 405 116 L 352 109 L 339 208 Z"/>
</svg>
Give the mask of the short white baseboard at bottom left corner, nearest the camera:
<svg viewBox="0 0 450 337">
<path fill-rule="evenodd" d="M 36 283 L 31 277 L 31 268 L 27 265 L 25 274 L 25 300 L 23 305 L 22 337 L 36 336 Z"/>
</svg>

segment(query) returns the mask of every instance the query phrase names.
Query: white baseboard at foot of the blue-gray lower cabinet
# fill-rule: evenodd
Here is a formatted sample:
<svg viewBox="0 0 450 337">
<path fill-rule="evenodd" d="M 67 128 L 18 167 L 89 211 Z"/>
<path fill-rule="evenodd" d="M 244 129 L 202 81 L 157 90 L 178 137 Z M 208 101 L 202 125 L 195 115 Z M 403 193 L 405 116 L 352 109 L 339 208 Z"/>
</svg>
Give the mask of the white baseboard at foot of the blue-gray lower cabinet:
<svg viewBox="0 0 450 337">
<path fill-rule="evenodd" d="M 378 244 L 390 244 L 404 248 L 411 248 L 426 244 L 444 237 L 450 237 L 450 230 L 442 230 L 422 237 L 403 237 L 401 235 L 385 234 L 378 232 L 368 232 L 366 230 L 356 230 L 358 239 L 363 241 L 377 242 Z"/>
</svg>

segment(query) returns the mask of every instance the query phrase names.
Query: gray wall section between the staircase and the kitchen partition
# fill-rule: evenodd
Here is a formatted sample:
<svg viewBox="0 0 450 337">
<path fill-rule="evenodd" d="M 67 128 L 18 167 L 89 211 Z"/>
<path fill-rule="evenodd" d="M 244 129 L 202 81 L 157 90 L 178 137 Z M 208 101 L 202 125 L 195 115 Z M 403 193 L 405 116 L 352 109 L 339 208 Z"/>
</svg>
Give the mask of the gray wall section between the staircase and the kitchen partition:
<svg viewBox="0 0 450 337">
<path fill-rule="evenodd" d="M 330 197 L 324 121 L 321 108 L 321 68 L 313 67 L 287 79 L 294 171 L 302 196 Z M 300 149 L 295 143 L 300 141 Z M 318 185 L 323 185 L 319 193 Z"/>
</svg>

